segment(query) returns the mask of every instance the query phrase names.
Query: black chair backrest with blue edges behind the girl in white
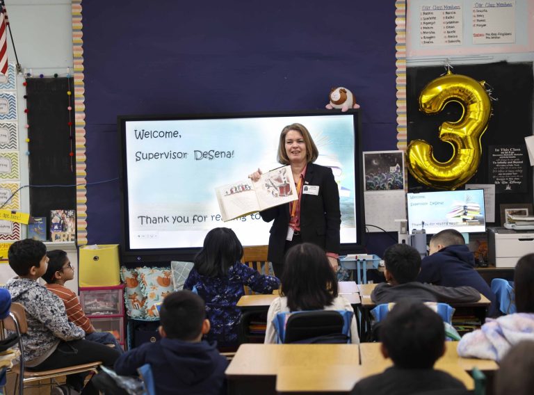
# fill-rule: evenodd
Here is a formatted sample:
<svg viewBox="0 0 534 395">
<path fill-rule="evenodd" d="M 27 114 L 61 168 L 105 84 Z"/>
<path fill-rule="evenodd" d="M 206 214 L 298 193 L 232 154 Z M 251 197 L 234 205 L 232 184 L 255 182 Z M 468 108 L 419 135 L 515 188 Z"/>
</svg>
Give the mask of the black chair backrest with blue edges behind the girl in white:
<svg viewBox="0 0 534 395">
<path fill-rule="evenodd" d="M 282 312 L 273 325 L 278 343 L 350 343 L 353 314 L 347 310 Z"/>
</svg>

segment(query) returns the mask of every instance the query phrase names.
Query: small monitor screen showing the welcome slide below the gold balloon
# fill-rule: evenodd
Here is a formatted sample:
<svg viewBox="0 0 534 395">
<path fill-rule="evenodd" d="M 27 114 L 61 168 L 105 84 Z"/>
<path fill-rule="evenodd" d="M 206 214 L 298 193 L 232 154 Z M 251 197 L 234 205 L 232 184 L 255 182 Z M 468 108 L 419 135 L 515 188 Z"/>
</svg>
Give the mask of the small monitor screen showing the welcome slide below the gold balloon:
<svg viewBox="0 0 534 395">
<path fill-rule="evenodd" d="M 486 231 L 484 190 L 407 193 L 408 232 L 425 229 L 436 234 L 444 229 L 462 233 Z"/>
</svg>

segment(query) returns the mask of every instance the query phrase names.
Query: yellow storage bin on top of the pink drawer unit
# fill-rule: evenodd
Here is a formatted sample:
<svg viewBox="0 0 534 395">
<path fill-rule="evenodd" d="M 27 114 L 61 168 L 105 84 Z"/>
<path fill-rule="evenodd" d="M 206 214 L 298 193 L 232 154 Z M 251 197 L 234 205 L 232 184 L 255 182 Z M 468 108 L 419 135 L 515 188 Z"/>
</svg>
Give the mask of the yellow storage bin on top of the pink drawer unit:
<svg viewBox="0 0 534 395">
<path fill-rule="evenodd" d="M 80 287 L 106 287 L 120 284 L 118 244 L 80 247 Z"/>
</svg>

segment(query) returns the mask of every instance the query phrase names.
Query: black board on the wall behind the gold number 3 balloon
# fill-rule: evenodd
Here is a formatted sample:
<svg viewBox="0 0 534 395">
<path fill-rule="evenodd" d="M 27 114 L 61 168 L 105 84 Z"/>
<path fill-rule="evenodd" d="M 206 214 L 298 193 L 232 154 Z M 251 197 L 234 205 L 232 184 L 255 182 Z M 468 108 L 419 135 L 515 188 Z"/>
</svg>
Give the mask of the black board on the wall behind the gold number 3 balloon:
<svg viewBox="0 0 534 395">
<path fill-rule="evenodd" d="M 481 138 L 482 159 L 469 184 L 493 184 L 492 157 L 490 146 L 525 147 L 526 136 L 533 134 L 533 64 L 532 63 L 490 63 L 485 65 L 458 65 L 452 70 L 455 74 L 464 74 L 478 81 L 486 81 L 492 87 L 493 115 L 489 118 L 487 130 Z M 445 121 L 454 122 L 462 116 L 460 104 L 451 102 L 444 111 L 435 115 L 426 115 L 419 111 L 419 94 L 433 79 L 444 74 L 444 67 L 408 67 L 407 68 L 407 140 L 426 140 L 434 148 L 434 156 L 444 162 L 451 158 L 451 145 L 439 140 L 438 127 Z M 524 156 L 525 157 L 525 156 Z M 491 169 L 491 170 L 490 170 Z M 500 191 L 496 188 L 495 222 L 500 224 L 499 204 L 532 202 L 533 183 L 532 168 L 526 166 L 523 175 L 524 188 L 513 191 Z M 408 176 L 410 191 L 431 191 L 422 186 L 412 175 Z"/>
</svg>

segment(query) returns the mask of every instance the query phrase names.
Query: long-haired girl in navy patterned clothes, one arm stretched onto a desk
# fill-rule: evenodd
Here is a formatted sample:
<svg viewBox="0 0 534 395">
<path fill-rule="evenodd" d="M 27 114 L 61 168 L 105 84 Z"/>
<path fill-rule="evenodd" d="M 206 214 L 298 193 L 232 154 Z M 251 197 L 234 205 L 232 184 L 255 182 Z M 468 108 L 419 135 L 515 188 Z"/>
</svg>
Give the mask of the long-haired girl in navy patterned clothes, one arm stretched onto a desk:
<svg viewBox="0 0 534 395">
<path fill-rule="evenodd" d="M 280 280 L 242 264 L 241 257 L 243 246 L 232 229 L 211 229 L 184 284 L 184 289 L 191 289 L 204 299 L 211 322 L 208 339 L 218 341 L 220 348 L 235 348 L 238 344 L 241 310 L 236 305 L 245 294 L 243 286 L 259 293 L 272 293 L 280 287 Z"/>
</svg>

